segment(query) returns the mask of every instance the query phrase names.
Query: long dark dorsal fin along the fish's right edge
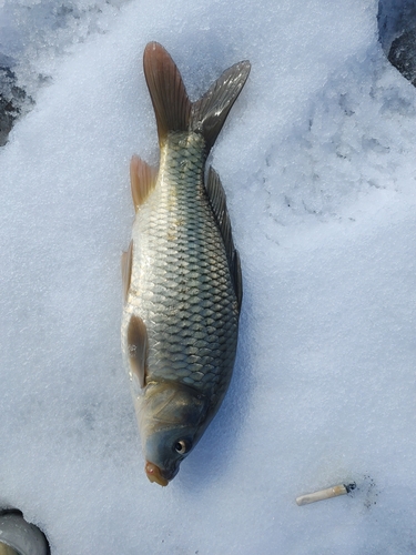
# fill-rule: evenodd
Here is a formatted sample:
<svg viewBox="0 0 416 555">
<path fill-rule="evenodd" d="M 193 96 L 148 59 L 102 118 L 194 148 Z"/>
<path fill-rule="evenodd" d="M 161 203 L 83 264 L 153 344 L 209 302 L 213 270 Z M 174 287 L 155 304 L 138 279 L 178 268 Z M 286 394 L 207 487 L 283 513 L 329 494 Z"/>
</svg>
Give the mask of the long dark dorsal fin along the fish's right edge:
<svg viewBox="0 0 416 555">
<path fill-rule="evenodd" d="M 219 224 L 221 235 L 224 241 L 226 258 L 229 261 L 230 274 L 233 282 L 235 296 L 237 297 L 239 311 L 243 300 L 243 280 L 241 275 L 240 255 L 234 248 L 231 232 L 231 221 L 226 209 L 226 199 L 223 185 L 216 171 L 210 165 L 209 176 L 205 184 L 212 211 Z"/>
</svg>

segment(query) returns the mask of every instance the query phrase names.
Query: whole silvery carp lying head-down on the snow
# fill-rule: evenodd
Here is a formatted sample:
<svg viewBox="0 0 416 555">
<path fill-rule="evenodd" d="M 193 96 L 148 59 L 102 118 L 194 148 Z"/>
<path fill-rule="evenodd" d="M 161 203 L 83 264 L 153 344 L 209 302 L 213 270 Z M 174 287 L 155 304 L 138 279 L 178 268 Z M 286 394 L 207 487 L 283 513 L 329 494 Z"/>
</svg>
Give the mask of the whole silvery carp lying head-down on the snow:
<svg viewBox="0 0 416 555">
<path fill-rule="evenodd" d="M 145 47 L 143 69 L 160 163 L 133 155 L 130 164 L 135 219 L 121 261 L 121 343 L 145 474 L 165 486 L 220 408 L 233 372 L 241 262 L 224 189 L 205 163 L 251 64 L 225 70 L 195 102 L 160 43 Z"/>
</svg>

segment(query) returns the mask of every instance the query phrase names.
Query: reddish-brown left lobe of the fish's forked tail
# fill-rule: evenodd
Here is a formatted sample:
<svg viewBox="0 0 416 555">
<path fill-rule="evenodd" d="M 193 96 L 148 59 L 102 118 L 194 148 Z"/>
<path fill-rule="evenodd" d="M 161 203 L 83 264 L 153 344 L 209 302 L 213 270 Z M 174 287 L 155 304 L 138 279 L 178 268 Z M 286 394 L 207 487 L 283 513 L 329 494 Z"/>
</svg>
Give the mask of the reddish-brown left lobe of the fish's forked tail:
<svg viewBox="0 0 416 555">
<path fill-rule="evenodd" d="M 169 131 L 187 131 L 191 101 L 175 62 L 159 42 L 144 49 L 143 68 L 161 144 Z"/>
</svg>

